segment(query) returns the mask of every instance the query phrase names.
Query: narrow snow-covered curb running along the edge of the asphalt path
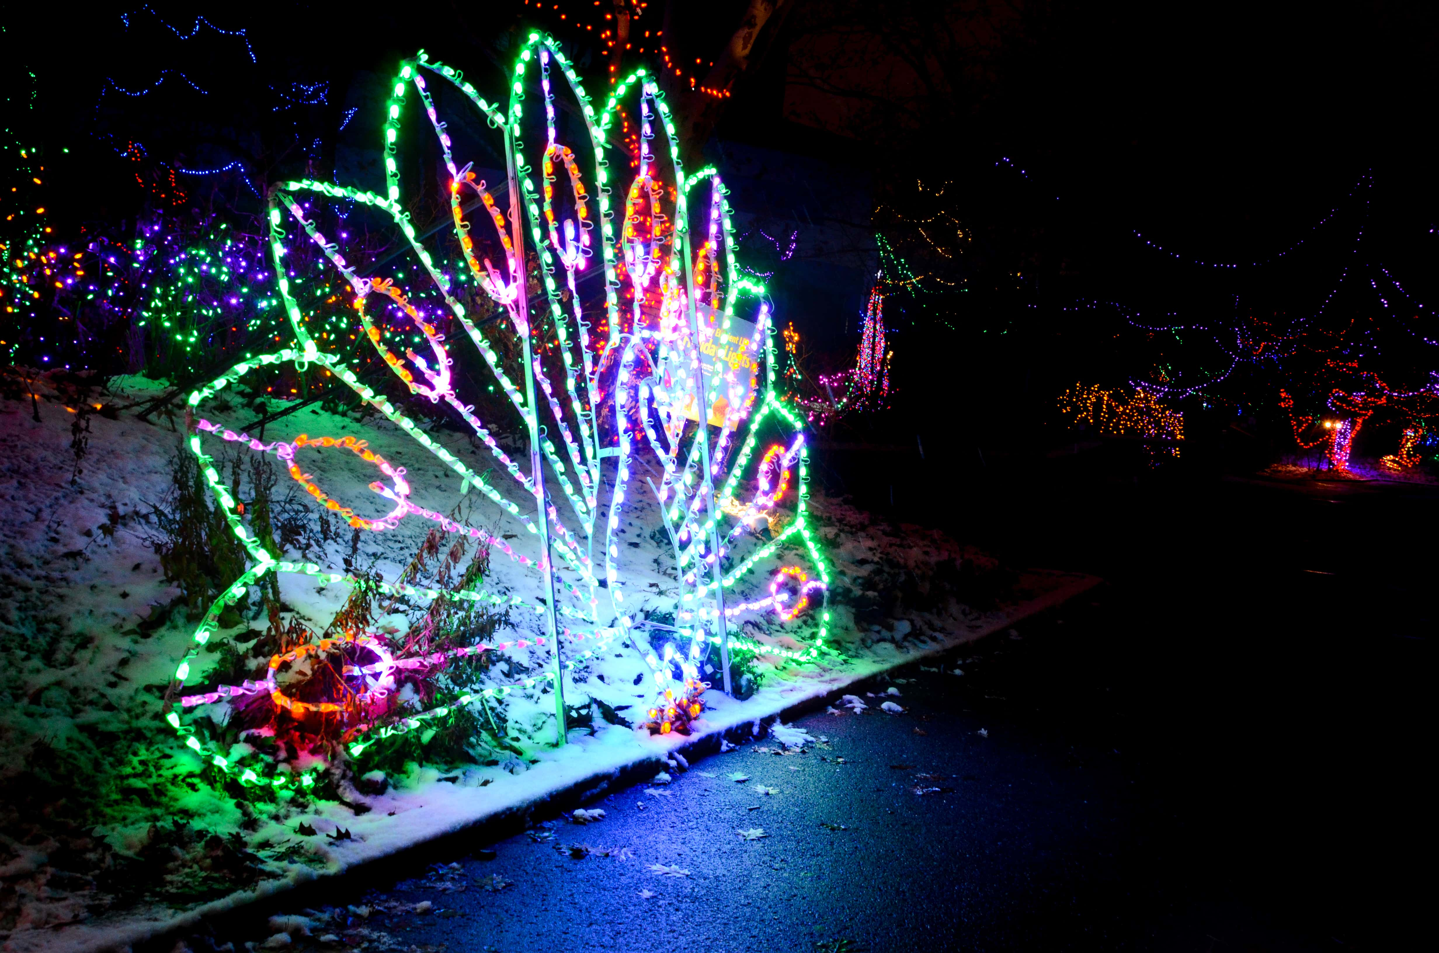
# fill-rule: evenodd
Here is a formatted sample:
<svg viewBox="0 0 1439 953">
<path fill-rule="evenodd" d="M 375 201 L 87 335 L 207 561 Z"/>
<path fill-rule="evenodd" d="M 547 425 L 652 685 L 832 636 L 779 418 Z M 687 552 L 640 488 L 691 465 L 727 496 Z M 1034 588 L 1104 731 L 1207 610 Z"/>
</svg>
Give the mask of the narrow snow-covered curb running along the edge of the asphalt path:
<svg viewBox="0 0 1439 953">
<path fill-rule="evenodd" d="M 558 815 L 610 790 L 648 780 L 665 770 L 666 760 L 675 753 L 682 754 L 691 763 L 717 754 L 721 739 L 738 740 L 760 736 L 764 730 L 761 726 L 773 724 L 777 720 L 793 721 L 796 717 L 837 700 L 856 682 L 993 635 L 1046 609 L 1059 606 L 1102 582 L 1098 577 L 1078 573 L 1052 574 L 1068 577 L 1071 582 L 1043 596 L 1004 609 L 1002 615 L 987 620 L 983 626 L 955 633 L 937 645 L 905 652 L 889 643 L 879 643 L 876 649 L 882 651 L 884 658 L 852 659 L 843 669 L 833 669 L 813 678 L 809 685 L 789 682 L 778 688 L 766 687 L 747 701 L 734 701 L 724 695 L 718 695 L 717 700 L 707 697 L 705 701 L 711 703 L 712 708 L 705 711 L 705 717 L 701 720 L 702 727 L 696 726 L 698 730 L 689 737 L 642 737 L 636 733 L 640 751 L 636 753 L 635 746 L 612 751 L 602 749 L 596 753 L 607 754 L 609 759 L 591 759 L 590 770 L 578 779 L 568 779 L 557 785 L 555 779 L 545 777 L 548 772 L 532 770 L 515 776 L 514 783 L 507 783 L 505 789 L 508 790 L 504 792 L 498 803 L 494 795 L 501 792 L 488 792 L 485 805 L 482 808 L 471 805 L 468 813 L 462 803 L 449 805 L 452 809 L 429 815 L 423 810 L 407 812 L 403 838 L 377 839 L 373 844 L 358 841 L 353 845 L 347 844 L 347 857 L 340 870 L 315 871 L 295 865 L 289 877 L 260 884 L 256 890 L 233 893 L 170 917 L 75 924 L 69 929 L 12 934 L 3 949 L 14 953 L 128 950 L 137 943 L 155 943 L 170 934 L 193 929 L 204 917 L 273 900 L 304 884 L 363 877 L 380 861 L 404 864 L 458 834 L 466 834 L 478 842 L 502 839 L 530 826 L 530 821 L 537 812 Z M 800 678 L 806 675 L 807 672 L 800 672 Z M 463 796 L 466 792 L 462 789 L 453 793 Z"/>
</svg>

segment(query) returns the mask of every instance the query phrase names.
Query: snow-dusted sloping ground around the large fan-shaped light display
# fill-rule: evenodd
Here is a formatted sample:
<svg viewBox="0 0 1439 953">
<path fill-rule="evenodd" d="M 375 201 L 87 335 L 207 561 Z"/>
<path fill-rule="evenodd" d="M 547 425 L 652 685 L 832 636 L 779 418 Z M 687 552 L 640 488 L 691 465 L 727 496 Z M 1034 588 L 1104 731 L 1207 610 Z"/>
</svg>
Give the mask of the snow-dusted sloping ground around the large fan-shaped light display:
<svg viewBox="0 0 1439 953">
<path fill-rule="evenodd" d="M 1065 573 L 1006 573 L 938 533 L 891 525 L 814 494 L 812 525 L 833 567 L 833 651 L 806 664 L 755 658 L 753 694 L 737 701 L 718 690 L 707 692 L 707 711 L 689 737 L 652 737 L 596 717 L 589 727 L 571 728 L 568 744 L 555 747 L 553 695 L 535 687 L 499 703 L 509 740 L 522 754 L 476 757 L 475 763 L 410 762 L 383 777 L 367 776 L 360 789 L 351 783 L 360 779 L 341 779 L 334 790 L 342 800 L 305 793 L 250 799 L 207 783 L 197 773 L 199 759 L 160 720 L 161 697 L 194 622 L 177 608 L 181 593 L 164 579 L 150 546 L 158 534 L 150 514 L 165 505 L 183 416 L 160 412 L 147 422 L 125 409 L 161 393 L 141 379 L 88 396 L 53 380 L 40 381 L 36 392 L 40 422 L 33 420 L 26 396 L 12 389 L 0 399 L 0 500 L 7 507 L 0 530 L 4 950 L 122 947 L 207 911 L 373 862 L 486 819 L 573 808 L 612 783 L 663 770 L 675 751 L 701 754 L 718 750 L 725 733 L 763 733 L 763 723 L 836 700 L 856 679 L 980 638 L 1095 582 Z M 78 456 L 72 430 L 81 400 L 89 400 L 92 413 L 88 443 Z M 278 406 L 246 402 L 209 416 L 239 428 Z M 298 433 L 368 439 L 377 453 L 409 468 L 416 502 L 449 512 L 459 498 L 455 475 L 384 420 L 309 406 L 271 425 L 266 439 Z M 455 443 L 449 442 L 452 449 Z M 478 452 L 465 462 L 481 471 L 489 465 Z M 357 510 L 371 505 L 366 501 L 373 498 L 367 484 L 374 471 L 354 455 L 317 452 L 304 464 L 328 494 Z M 281 494 L 285 482 L 282 474 Z M 498 508 L 481 505 L 478 494 L 471 500 L 473 520 L 496 536 L 524 531 Z M 301 502 L 309 501 L 301 495 Z M 348 530 L 312 533 L 296 546 L 308 547 L 304 559 L 321 566 L 338 569 L 348 556 L 394 579 L 430 525 L 406 520 L 393 531 L 366 534 L 361 550 L 351 548 Z M 630 550 L 626 593 L 637 603 L 633 610 L 672 622 L 673 560 L 655 502 L 636 498 L 620 531 Z M 797 553 L 797 547 L 774 553 L 755 567 L 747 589 L 741 583 L 738 595 L 764 595 L 771 572 L 787 556 L 794 561 Z M 537 579 L 495 554 L 486 587 L 534 596 Z M 345 583 L 281 579 L 286 615 L 315 631 L 348 592 Z M 961 596 L 990 605 L 970 609 Z M 242 619 L 226 636 L 265 625 L 256 610 L 255 619 Z M 406 625 L 403 616 L 394 625 Z M 512 613 L 496 638 L 532 638 L 543 633 L 541 626 L 541 618 Z M 652 700 L 643 656 L 662 632 L 640 629 L 613 642 L 603 656 L 576 669 L 573 681 L 567 677 L 566 701 L 576 705 L 594 698 L 617 713 L 616 721 L 642 721 Z M 744 622 L 744 633 L 802 648 L 814 638 L 814 619 L 783 623 L 757 613 Z M 219 658 L 219 652 L 201 654 L 189 684 L 203 682 L 204 665 Z M 544 667 L 544 654 L 531 645 L 511 649 L 491 674 L 498 684 Z M 364 760 L 357 774 L 367 770 Z"/>
</svg>

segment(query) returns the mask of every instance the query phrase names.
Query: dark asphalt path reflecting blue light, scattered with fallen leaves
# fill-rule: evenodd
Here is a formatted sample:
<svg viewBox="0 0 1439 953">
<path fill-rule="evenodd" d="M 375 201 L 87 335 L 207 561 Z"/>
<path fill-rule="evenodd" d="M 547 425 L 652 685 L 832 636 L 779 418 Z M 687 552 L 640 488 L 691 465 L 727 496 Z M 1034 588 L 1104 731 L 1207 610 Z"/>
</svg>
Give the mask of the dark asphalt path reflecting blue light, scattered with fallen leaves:
<svg viewBox="0 0 1439 953">
<path fill-rule="evenodd" d="M 1433 538 L 1439 495 L 1069 502 L 1009 533 L 1108 586 L 865 685 L 863 714 L 800 720 L 825 739 L 803 753 L 761 739 L 591 805 L 594 823 L 456 838 L 311 891 L 296 946 L 1413 949 L 1433 563 L 1406 541 Z M 866 697 L 891 687 L 902 714 Z M 230 918 L 190 944 L 269 930 Z"/>
</svg>

